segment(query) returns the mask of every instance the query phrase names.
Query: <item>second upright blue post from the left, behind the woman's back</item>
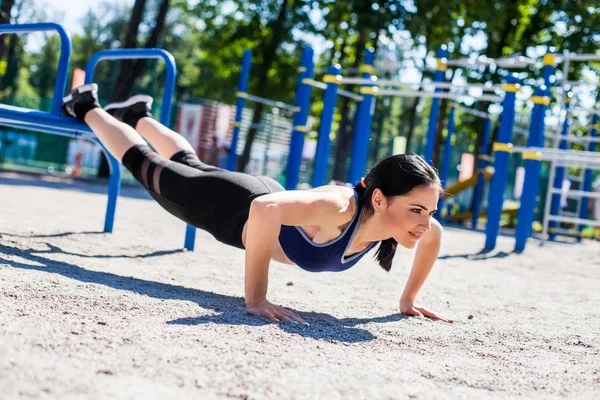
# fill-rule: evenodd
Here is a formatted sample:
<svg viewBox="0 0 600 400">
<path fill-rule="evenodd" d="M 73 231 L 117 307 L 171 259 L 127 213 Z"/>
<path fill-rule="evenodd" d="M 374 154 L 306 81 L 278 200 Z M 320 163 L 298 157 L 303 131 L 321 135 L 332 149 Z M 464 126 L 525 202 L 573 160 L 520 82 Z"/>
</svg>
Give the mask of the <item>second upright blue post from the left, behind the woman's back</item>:
<svg viewBox="0 0 600 400">
<path fill-rule="evenodd" d="M 304 80 L 310 79 L 313 76 L 313 56 L 313 49 L 310 47 L 305 48 L 302 51 L 302 59 L 298 68 L 298 84 L 296 89 L 296 107 L 298 107 L 298 111 L 294 113 L 290 152 L 285 170 L 285 188 L 287 190 L 296 189 L 298 180 L 300 179 L 304 135 L 308 132 L 306 121 L 310 112 L 310 96 L 312 92 L 312 86 L 306 84 Z"/>
</svg>

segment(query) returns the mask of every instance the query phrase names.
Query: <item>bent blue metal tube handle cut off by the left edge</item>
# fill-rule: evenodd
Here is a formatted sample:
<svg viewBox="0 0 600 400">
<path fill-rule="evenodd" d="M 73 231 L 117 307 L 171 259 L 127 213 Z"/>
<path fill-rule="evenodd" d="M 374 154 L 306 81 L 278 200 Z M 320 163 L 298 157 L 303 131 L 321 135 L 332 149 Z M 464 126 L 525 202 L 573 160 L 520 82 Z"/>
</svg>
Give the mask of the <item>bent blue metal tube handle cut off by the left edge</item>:
<svg viewBox="0 0 600 400">
<path fill-rule="evenodd" d="M 0 34 L 3 33 L 29 33 L 56 31 L 60 36 L 60 57 L 58 59 L 58 70 L 54 84 L 54 96 L 52 97 L 51 113 L 59 115 L 62 108 L 62 98 L 67 86 L 67 73 L 71 60 L 71 37 L 65 29 L 54 22 L 41 22 L 33 24 L 0 24 Z"/>
</svg>

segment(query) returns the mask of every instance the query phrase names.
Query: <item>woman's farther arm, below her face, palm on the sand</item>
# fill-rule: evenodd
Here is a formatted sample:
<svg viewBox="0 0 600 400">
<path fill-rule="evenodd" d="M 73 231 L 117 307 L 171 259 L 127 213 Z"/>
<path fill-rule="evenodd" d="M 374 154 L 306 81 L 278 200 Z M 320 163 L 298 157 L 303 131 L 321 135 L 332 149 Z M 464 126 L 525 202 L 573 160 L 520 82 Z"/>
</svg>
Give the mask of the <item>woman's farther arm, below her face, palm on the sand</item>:
<svg viewBox="0 0 600 400">
<path fill-rule="evenodd" d="M 423 235 L 419 242 L 408 281 L 406 282 L 404 292 L 400 297 L 400 312 L 403 314 L 415 316 L 424 315 L 445 322 L 452 322 L 450 319 L 440 314 L 415 305 L 417 294 L 419 293 L 419 290 L 421 290 L 423 283 L 425 283 L 425 279 L 427 279 L 429 272 L 431 272 L 431 269 L 437 260 L 442 241 L 442 231 L 443 229 L 440 223 L 437 220 L 432 219 L 431 230 Z"/>
</svg>

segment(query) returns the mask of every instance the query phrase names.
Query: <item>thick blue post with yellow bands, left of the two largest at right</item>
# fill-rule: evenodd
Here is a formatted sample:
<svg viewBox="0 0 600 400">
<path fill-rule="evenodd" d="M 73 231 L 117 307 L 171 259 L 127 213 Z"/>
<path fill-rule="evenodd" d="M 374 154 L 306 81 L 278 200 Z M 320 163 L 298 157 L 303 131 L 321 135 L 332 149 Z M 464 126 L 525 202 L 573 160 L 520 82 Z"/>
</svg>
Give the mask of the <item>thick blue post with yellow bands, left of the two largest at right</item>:
<svg viewBox="0 0 600 400">
<path fill-rule="evenodd" d="M 516 75 L 509 75 L 503 89 L 505 92 L 502 102 L 502 116 L 498 139 L 494 143 L 494 177 L 490 186 L 488 200 L 488 220 L 486 224 L 485 249 L 493 250 L 500 232 L 500 218 L 502 216 L 502 203 L 504 190 L 508 178 L 508 161 L 512 152 L 512 135 L 515 123 L 515 98 L 519 91 L 519 79 Z"/>
</svg>

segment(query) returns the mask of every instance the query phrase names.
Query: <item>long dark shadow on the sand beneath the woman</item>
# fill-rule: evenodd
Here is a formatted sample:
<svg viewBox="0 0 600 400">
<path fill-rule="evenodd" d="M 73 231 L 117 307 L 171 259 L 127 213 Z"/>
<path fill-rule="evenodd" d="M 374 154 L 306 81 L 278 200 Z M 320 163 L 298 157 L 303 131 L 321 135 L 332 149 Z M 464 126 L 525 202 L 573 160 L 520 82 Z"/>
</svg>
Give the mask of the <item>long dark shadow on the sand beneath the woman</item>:
<svg viewBox="0 0 600 400">
<path fill-rule="evenodd" d="M 64 233 L 67 235 L 70 233 Z M 59 236 L 59 235 L 55 235 Z M 32 236 L 34 237 L 34 236 Z M 59 274 L 84 283 L 104 285 L 117 290 L 129 291 L 146 295 L 155 299 L 182 300 L 197 303 L 204 309 L 217 312 L 217 315 L 179 318 L 167 321 L 173 325 L 202 325 L 202 324 L 226 324 L 226 325 L 248 325 L 260 326 L 272 324 L 264 318 L 256 318 L 246 313 L 244 300 L 241 297 L 222 295 L 204 290 L 172 285 L 168 283 L 149 281 L 134 277 L 116 275 L 109 272 L 91 271 L 75 264 L 64 261 L 52 260 L 45 257 L 46 254 L 68 254 L 78 257 L 108 258 L 108 257 L 161 257 L 176 254 L 182 250 L 164 250 L 135 256 L 89 256 L 62 251 L 60 248 L 45 243 L 47 250 L 26 249 L 11 247 L 0 244 L 0 263 L 6 263 L 13 268 L 21 268 L 32 271 L 41 271 L 49 274 Z M 22 259 L 34 262 L 37 265 L 9 260 L 10 256 L 18 256 Z M 288 333 L 297 334 L 317 340 L 338 341 L 342 343 L 358 343 L 375 339 L 369 331 L 356 328 L 357 325 L 367 323 L 389 323 L 403 321 L 408 316 L 391 314 L 388 316 L 374 318 L 344 318 L 339 319 L 329 314 L 302 312 L 292 310 L 302 315 L 311 325 L 302 326 L 291 323 L 282 323 L 280 328 Z"/>
</svg>

